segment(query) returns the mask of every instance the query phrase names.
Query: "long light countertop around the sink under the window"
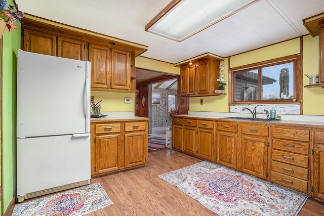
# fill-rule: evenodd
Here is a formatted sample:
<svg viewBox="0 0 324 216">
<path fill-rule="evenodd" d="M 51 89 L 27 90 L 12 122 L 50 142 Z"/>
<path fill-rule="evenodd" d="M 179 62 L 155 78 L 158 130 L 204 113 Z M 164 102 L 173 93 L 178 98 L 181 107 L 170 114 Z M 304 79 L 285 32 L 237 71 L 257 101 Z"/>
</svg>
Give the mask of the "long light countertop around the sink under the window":
<svg viewBox="0 0 324 216">
<path fill-rule="evenodd" d="M 324 116 L 323 115 L 281 115 L 282 120 L 279 121 L 250 121 L 250 122 L 262 122 L 262 123 L 284 123 L 284 124 L 302 124 L 302 125 L 317 125 L 324 126 Z M 209 119 L 220 119 L 224 117 L 247 117 L 251 118 L 251 113 L 227 113 L 227 112 L 192 112 L 189 111 L 188 114 L 174 115 L 179 117 L 194 117 L 194 118 L 209 118 Z M 266 118 L 265 114 L 257 114 L 257 118 Z M 223 119 L 231 121 L 247 121 L 239 119 Z"/>
</svg>

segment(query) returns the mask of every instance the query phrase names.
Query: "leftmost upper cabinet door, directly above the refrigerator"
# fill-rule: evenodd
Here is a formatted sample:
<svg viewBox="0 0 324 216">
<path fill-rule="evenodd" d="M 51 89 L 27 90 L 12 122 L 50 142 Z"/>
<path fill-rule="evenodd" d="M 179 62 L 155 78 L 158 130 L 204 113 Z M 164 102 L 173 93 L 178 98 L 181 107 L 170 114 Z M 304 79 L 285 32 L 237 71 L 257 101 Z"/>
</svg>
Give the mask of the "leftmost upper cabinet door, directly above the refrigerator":
<svg viewBox="0 0 324 216">
<path fill-rule="evenodd" d="M 56 35 L 24 29 L 24 51 L 56 56 Z"/>
</svg>

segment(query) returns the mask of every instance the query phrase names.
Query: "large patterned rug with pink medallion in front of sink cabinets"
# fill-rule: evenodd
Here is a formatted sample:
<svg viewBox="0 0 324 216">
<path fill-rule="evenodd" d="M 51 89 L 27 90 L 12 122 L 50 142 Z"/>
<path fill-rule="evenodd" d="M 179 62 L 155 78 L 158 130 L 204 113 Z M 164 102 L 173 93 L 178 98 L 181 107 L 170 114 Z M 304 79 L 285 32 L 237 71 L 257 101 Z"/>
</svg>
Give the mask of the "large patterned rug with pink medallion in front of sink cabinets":
<svg viewBox="0 0 324 216">
<path fill-rule="evenodd" d="M 159 176 L 218 215 L 297 215 L 307 196 L 209 161 Z"/>
</svg>

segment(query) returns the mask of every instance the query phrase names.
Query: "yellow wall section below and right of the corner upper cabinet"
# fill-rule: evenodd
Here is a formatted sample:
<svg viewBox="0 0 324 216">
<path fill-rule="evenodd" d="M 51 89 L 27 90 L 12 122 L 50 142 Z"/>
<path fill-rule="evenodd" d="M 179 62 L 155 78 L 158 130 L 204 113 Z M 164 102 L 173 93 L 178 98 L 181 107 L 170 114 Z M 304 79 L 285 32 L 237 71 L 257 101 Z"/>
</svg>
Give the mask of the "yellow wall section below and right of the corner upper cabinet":
<svg viewBox="0 0 324 216">
<path fill-rule="evenodd" d="M 228 92 L 228 58 L 225 58 L 221 63 L 226 64 L 224 69 L 225 92 Z M 212 80 L 217 82 L 217 80 Z M 203 105 L 200 104 L 200 99 L 203 99 Z M 205 111 L 205 112 L 228 112 L 228 95 L 209 96 L 209 97 L 193 97 L 189 98 L 190 111 Z"/>
</svg>

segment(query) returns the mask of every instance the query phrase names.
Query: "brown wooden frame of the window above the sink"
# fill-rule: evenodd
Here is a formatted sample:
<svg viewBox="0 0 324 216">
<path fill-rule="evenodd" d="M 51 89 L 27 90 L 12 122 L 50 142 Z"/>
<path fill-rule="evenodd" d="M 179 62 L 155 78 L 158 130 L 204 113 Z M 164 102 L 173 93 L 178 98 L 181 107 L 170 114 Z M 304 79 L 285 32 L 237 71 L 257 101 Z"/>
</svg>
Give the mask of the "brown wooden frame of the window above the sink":
<svg viewBox="0 0 324 216">
<path fill-rule="evenodd" d="M 277 65 L 278 63 L 289 63 L 294 62 L 294 102 L 293 99 L 278 99 L 278 100 L 261 100 L 261 68 Z M 235 73 L 247 70 L 247 69 L 258 69 L 258 99 L 253 101 L 234 101 L 235 93 Z M 300 54 L 280 57 L 276 59 L 266 60 L 262 62 L 257 62 L 248 65 L 242 65 L 239 67 L 229 68 L 229 83 L 231 83 L 231 88 L 229 88 L 229 104 L 251 104 L 251 103 L 262 103 L 262 104 L 289 104 L 289 103 L 301 103 L 301 93 L 302 93 L 302 70 L 301 70 L 301 58 Z"/>
</svg>

